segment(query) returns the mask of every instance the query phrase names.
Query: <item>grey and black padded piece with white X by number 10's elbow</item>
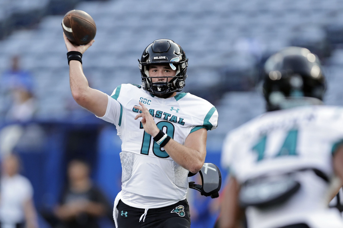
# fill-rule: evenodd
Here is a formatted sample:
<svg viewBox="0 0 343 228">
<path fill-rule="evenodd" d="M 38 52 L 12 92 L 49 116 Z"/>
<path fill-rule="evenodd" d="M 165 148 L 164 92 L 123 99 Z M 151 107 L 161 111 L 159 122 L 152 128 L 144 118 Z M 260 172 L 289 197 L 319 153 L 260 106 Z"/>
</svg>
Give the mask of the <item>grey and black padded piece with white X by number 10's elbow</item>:
<svg viewBox="0 0 343 228">
<path fill-rule="evenodd" d="M 218 167 L 213 163 L 204 163 L 199 173 L 202 185 L 197 185 L 192 181 L 189 182 L 189 187 L 200 191 L 203 196 L 217 198 L 222 186 L 222 175 Z"/>
</svg>

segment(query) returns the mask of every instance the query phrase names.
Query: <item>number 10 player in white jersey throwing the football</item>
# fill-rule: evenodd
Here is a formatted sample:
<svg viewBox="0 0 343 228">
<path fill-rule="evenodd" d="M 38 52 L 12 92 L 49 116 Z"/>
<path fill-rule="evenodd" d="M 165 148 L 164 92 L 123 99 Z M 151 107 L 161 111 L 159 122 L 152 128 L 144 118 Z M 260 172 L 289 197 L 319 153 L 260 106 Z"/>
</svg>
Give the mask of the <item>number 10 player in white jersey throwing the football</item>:
<svg viewBox="0 0 343 228">
<path fill-rule="evenodd" d="M 207 130 L 217 127 L 218 113 L 202 98 L 177 94 L 187 77 L 185 52 L 172 40 L 155 40 L 139 61 L 142 85 L 121 84 L 108 96 L 90 88 L 82 71 L 81 53 L 94 41 L 74 46 L 64 40 L 75 101 L 115 124 L 122 140 L 117 227 L 190 227 L 188 173 L 202 168 Z"/>
</svg>

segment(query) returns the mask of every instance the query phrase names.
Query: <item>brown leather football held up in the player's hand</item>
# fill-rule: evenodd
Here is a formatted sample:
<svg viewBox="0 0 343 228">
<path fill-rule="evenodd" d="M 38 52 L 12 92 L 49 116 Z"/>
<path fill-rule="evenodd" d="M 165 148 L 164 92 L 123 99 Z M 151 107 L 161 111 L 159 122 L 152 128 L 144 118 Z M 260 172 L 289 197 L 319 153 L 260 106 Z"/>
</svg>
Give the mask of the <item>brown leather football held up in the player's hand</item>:
<svg viewBox="0 0 343 228">
<path fill-rule="evenodd" d="M 62 28 L 68 40 L 76 45 L 89 43 L 96 33 L 93 18 L 82 10 L 71 10 L 66 13 L 62 20 Z"/>
</svg>

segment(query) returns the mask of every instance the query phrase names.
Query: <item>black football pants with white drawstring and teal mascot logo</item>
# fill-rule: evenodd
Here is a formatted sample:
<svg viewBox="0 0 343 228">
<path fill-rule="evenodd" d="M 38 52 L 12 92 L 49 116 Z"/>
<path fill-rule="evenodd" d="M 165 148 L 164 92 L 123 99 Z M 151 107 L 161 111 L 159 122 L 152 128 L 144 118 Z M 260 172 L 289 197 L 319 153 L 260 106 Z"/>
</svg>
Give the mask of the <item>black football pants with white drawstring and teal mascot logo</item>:
<svg viewBox="0 0 343 228">
<path fill-rule="evenodd" d="M 144 214 L 145 209 L 131 207 L 121 200 L 117 205 L 118 228 L 190 228 L 191 220 L 189 205 L 187 200 L 182 200 L 176 204 L 149 209 Z M 144 219 L 144 222 L 143 222 Z"/>
</svg>

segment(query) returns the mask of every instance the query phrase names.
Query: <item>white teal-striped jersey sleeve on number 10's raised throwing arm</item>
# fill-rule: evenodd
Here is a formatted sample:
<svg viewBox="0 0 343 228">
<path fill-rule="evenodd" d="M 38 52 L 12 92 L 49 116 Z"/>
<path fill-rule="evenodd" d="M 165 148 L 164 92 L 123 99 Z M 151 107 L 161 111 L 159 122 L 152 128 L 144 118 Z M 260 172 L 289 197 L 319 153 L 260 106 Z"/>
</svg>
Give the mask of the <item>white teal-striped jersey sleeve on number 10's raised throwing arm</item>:
<svg viewBox="0 0 343 228">
<path fill-rule="evenodd" d="M 120 126 L 123 113 L 123 107 L 117 100 L 120 94 L 120 88 L 121 85 L 113 91 L 111 96 L 107 95 L 108 102 L 105 115 L 103 117 L 96 116 L 102 120 L 113 123 L 116 126 Z"/>
</svg>

